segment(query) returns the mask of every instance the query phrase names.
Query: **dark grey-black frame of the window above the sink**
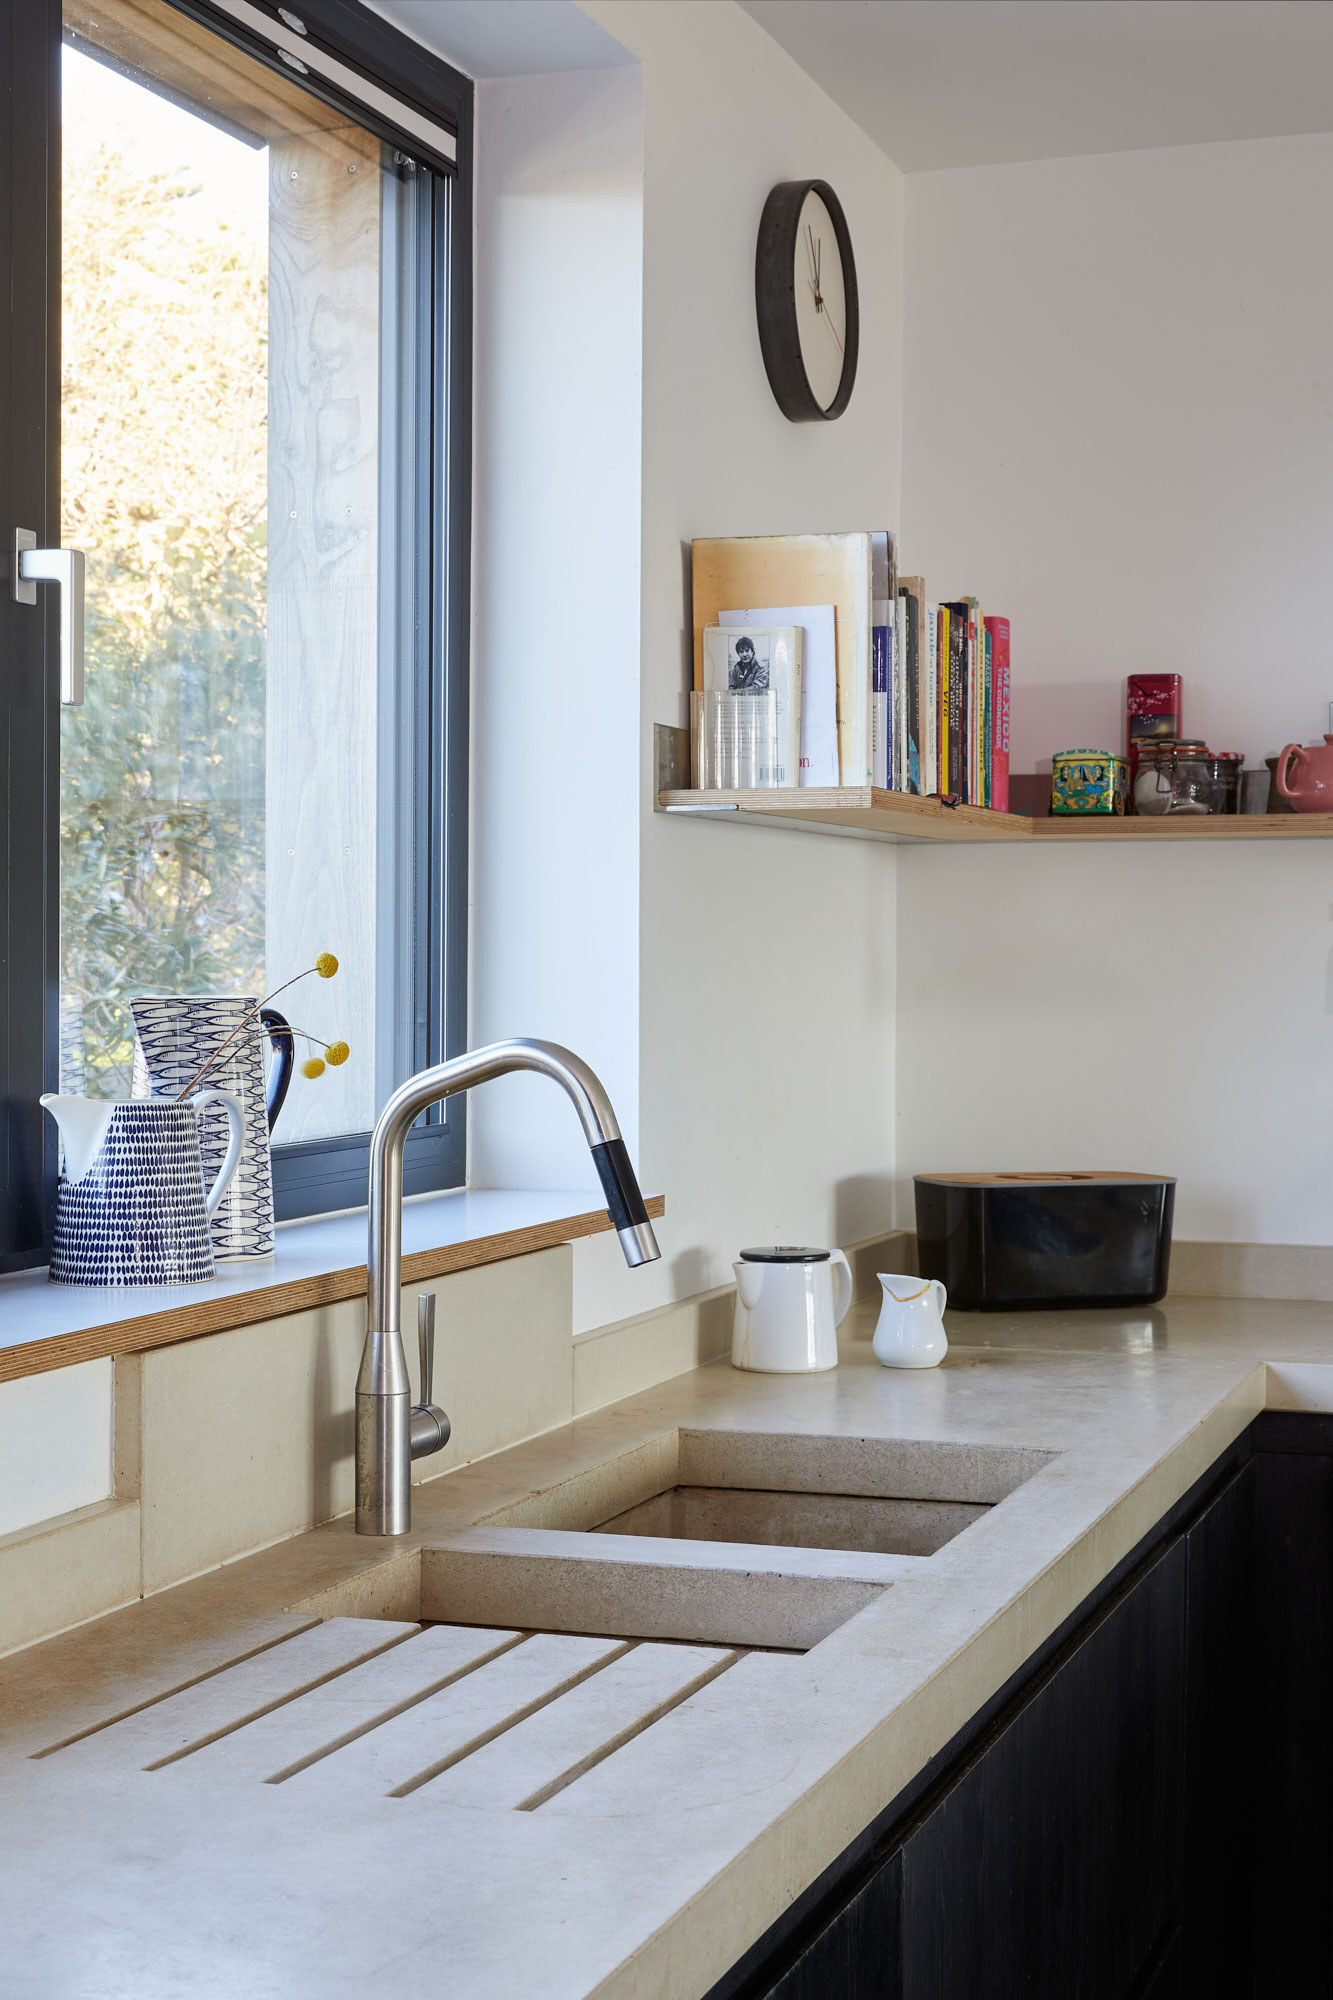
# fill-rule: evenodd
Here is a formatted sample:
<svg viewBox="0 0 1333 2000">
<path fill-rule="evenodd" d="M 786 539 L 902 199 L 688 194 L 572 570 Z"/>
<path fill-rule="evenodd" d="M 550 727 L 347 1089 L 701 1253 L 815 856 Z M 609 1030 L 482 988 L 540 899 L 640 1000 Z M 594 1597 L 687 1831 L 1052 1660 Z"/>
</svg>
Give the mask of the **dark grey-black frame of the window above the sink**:
<svg viewBox="0 0 1333 2000">
<path fill-rule="evenodd" d="M 166 0 L 258 62 L 292 70 L 256 34 L 208 0 Z M 280 12 L 254 0 L 274 24 Z M 358 0 L 298 0 L 314 46 L 454 136 L 444 226 L 432 258 L 448 256 L 444 324 L 432 340 L 428 478 L 414 534 L 428 562 L 412 606 L 416 836 L 412 854 L 412 1068 L 466 1046 L 468 908 L 468 632 L 472 502 L 472 82 Z M 10 314 L 0 324 L 0 560 L 14 526 L 42 546 L 60 536 L 60 0 L 0 0 L 0 274 Z M 394 138 L 384 116 L 322 82 L 300 78 L 370 130 Z M 424 158 L 402 134 L 402 150 Z M 438 204 L 436 204 L 438 208 Z M 436 286 L 430 288 L 438 292 Z M 418 330 L 420 332 L 420 330 Z M 422 430 L 418 428 L 418 438 Z M 418 460 L 422 460 L 418 448 Z M 58 608 L 16 606 L 0 588 L 0 1272 L 44 1264 L 56 1196 L 56 1134 L 40 1110 L 58 1088 L 60 1004 L 60 686 Z M 366 1200 L 370 1134 L 274 1146 L 278 1220 L 358 1208 Z M 466 1178 L 466 1098 L 450 1098 L 410 1134 L 404 1190 L 424 1194 Z"/>
</svg>

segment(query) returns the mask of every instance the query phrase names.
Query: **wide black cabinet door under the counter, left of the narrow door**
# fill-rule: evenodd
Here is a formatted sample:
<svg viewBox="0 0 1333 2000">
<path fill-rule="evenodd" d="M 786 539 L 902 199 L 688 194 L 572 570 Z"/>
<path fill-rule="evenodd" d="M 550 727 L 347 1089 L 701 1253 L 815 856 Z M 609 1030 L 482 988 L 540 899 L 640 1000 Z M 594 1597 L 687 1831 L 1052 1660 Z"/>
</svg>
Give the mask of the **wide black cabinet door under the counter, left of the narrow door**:
<svg viewBox="0 0 1333 2000">
<path fill-rule="evenodd" d="M 903 2000 L 1127 2000 L 1181 1896 L 1185 1544 L 1033 1690 L 903 1844 Z"/>
</svg>

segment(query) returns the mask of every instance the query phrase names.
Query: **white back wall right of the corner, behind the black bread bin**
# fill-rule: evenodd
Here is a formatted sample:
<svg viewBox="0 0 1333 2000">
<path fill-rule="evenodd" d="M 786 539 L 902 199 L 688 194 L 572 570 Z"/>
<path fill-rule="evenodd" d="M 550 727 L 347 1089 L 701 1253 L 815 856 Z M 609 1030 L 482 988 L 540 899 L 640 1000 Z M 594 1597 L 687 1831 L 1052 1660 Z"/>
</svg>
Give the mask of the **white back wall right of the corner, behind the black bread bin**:
<svg viewBox="0 0 1333 2000">
<path fill-rule="evenodd" d="M 1127 672 L 1257 764 L 1333 696 L 1333 136 L 907 182 L 905 560 L 1013 618 L 1015 770 Z M 967 286 L 961 300 L 959 282 Z M 913 850 L 899 1172 L 1181 1176 L 1177 1234 L 1333 1242 L 1323 844 Z"/>
</svg>

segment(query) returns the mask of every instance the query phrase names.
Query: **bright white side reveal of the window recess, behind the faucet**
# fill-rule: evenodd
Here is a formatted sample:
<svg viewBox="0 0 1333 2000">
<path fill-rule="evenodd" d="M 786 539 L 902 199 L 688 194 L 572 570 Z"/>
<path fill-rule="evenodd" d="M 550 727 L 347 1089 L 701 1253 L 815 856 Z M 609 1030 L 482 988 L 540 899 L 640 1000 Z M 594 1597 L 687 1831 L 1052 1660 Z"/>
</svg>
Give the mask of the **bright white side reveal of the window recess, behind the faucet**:
<svg viewBox="0 0 1333 2000">
<path fill-rule="evenodd" d="M 476 86 L 470 1042 L 574 1048 L 638 1144 L 636 66 Z M 474 1186 L 594 1186 L 538 1078 L 472 1094 Z"/>
</svg>

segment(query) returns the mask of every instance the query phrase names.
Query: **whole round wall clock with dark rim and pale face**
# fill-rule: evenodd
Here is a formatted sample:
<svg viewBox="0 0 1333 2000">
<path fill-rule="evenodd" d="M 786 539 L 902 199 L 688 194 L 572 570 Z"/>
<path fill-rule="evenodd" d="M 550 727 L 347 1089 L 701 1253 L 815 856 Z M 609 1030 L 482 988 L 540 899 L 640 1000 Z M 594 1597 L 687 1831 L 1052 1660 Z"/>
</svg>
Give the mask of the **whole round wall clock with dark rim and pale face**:
<svg viewBox="0 0 1333 2000">
<path fill-rule="evenodd" d="M 857 380 L 861 314 L 843 204 L 827 180 L 781 180 L 755 250 L 755 310 L 769 386 L 793 424 L 841 416 Z"/>
</svg>

